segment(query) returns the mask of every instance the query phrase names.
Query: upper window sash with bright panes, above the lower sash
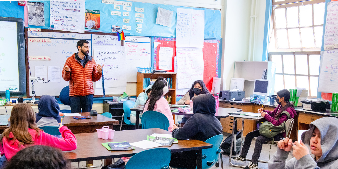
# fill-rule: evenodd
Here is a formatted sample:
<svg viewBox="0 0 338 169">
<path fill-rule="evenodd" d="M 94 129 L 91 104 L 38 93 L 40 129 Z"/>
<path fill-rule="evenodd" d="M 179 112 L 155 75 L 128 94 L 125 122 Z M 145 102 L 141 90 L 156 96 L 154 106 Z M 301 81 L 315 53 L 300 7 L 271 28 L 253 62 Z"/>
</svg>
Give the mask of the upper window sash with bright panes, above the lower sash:
<svg viewBox="0 0 338 169">
<path fill-rule="evenodd" d="M 298 1 L 272 2 L 273 37 L 270 44 L 274 44 L 270 46 L 274 46 L 273 51 L 321 49 L 325 0 Z"/>
</svg>

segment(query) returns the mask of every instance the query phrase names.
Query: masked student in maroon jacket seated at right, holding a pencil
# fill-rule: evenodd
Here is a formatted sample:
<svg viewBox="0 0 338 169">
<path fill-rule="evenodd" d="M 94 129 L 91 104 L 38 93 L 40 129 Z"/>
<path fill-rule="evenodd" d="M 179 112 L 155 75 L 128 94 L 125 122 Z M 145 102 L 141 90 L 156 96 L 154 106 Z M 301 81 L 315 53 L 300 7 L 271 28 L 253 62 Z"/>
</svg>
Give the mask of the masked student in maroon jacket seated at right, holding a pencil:
<svg viewBox="0 0 338 169">
<path fill-rule="evenodd" d="M 267 111 L 263 108 L 258 109 L 258 112 L 262 114 L 262 116 L 268 121 L 271 122 L 274 126 L 279 126 L 286 120 L 288 120 L 287 114 L 290 115 L 290 118 L 294 118 L 296 116 L 296 111 L 294 110 L 293 105 L 290 103 L 290 92 L 287 89 L 280 90 L 277 92 L 276 101 L 279 104 L 273 111 Z M 286 133 L 281 132 L 273 137 L 274 140 L 281 140 L 285 138 Z M 265 136 L 260 135 L 259 130 L 249 132 L 244 141 L 244 145 L 242 147 L 241 155 L 237 155 L 231 160 L 245 163 L 246 161 L 246 154 L 251 145 L 251 140 L 257 137 L 254 154 L 252 154 L 251 162 L 244 168 L 244 169 L 255 169 L 258 168 L 258 159 L 261 155 L 263 143 L 266 141 L 271 141 L 272 138 L 267 138 Z"/>
</svg>

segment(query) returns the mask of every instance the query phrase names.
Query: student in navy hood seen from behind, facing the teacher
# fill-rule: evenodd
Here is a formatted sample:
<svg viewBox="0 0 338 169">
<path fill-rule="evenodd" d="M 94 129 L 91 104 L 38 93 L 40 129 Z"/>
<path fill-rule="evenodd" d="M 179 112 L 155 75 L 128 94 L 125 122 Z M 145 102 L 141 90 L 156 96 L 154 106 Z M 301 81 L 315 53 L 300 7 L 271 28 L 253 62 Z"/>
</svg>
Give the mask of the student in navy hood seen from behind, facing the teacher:
<svg viewBox="0 0 338 169">
<path fill-rule="evenodd" d="M 61 123 L 60 107 L 56 99 L 49 95 L 42 95 L 38 103 L 39 113 L 35 114 L 38 127 L 57 126 Z"/>
</svg>

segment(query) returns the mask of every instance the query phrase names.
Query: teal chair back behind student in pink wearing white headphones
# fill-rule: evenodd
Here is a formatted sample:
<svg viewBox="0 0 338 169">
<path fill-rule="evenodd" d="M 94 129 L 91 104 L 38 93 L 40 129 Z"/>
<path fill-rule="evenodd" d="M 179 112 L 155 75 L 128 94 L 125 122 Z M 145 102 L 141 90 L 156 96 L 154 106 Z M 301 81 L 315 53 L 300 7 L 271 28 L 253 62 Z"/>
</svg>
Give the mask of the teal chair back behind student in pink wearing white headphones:
<svg viewBox="0 0 338 169">
<path fill-rule="evenodd" d="M 169 130 L 169 120 L 168 118 L 156 111 L 146 111 L 142 115 L 142 129 L 145 128 L 161 128 L 164 130 Z"/>
</svg>

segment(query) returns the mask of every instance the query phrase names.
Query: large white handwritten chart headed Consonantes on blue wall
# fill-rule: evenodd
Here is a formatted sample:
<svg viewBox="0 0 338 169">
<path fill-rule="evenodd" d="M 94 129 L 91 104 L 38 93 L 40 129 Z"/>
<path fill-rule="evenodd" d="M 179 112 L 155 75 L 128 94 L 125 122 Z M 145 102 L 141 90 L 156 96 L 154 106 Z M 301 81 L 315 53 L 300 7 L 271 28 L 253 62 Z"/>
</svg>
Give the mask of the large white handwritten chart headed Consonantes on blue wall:
<svg viewBox="0 0 338 169">
<path fill-rule="evenodd" d="M 176 46 L 203 48 L 204 10 L 177 8 Z"/>
</svg>

